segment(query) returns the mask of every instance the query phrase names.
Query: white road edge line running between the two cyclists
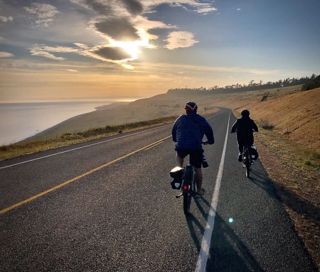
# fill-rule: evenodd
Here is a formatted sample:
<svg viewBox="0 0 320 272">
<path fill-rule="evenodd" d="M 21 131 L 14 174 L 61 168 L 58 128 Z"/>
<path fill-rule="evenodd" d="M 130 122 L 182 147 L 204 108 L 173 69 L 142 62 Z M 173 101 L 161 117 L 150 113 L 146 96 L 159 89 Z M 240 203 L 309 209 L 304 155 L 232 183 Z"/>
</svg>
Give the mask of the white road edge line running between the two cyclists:
<svg viewBox="0 0 320 272">
<path fill-rule="evenodd" d="M 216 179 L 216 185 L 214 187 L 214 192 L 213 192 L 213 196 L 212 196 L 210 212 L 208 214 L 207 225 L 205 227 L 204 235 L 202 237 L 201 249 L 200 249 L 198 261 L 196 264 L 196 270 L 195 270 L 196 272 L 204 272 L 205 271 L 208 256 L 209 256 L 210 242 L 211 242 L 211 236 L 212 236 L 212 231 L 213 231 L 214 218 L 216 215 L 216 209 L 217 209 L 217 205 L 218 205 L 219 191 L 220 191 L 222 172 L 223 172 L 223 166 L 224 166 L 224 158 L 225 158 L 226 149 L 227 149 L 230 114 L 231 114 L 231 112 L 229 113 L 226 138 L 224 140 L 224 146 L 223 146 L 223 151 L 222 151 L 222 155 L 221 155 L 221 161 L 220 161 L 220 166 L 219 166 L 219 170 L 218 170 L 218 175 L 217 175 L 217 179 Z"/>
</svg>

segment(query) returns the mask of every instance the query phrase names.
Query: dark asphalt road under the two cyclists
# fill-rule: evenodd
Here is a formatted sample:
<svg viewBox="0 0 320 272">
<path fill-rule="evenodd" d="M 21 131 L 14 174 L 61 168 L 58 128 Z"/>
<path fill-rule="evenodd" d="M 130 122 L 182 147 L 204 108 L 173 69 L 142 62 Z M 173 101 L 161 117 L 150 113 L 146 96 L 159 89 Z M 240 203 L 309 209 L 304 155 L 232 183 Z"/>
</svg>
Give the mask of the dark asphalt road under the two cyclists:
<svg viewBox="0 0 320 272">
<path fill-rule="evenodd" d="M 250 179 L 237 162 L 236 118 L 206 118 L 216 143 L 188 218 L 172 124 L 0 162 L 0 270 L 317 271 L 260 161 Z"/>
</svg>

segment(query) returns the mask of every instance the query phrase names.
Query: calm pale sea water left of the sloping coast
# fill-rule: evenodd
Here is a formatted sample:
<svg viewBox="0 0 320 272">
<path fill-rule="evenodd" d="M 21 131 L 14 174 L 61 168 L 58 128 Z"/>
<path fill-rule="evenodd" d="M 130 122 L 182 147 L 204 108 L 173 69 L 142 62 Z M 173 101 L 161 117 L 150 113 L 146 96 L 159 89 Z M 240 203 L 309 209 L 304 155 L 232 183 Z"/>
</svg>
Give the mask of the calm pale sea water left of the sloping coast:
<svg viewBox="0 0 320 272">
<path fill-rule="evenodd" d="M 0 145 L 12 144 L 115 101 L 0 103 Z"/>
</svg>

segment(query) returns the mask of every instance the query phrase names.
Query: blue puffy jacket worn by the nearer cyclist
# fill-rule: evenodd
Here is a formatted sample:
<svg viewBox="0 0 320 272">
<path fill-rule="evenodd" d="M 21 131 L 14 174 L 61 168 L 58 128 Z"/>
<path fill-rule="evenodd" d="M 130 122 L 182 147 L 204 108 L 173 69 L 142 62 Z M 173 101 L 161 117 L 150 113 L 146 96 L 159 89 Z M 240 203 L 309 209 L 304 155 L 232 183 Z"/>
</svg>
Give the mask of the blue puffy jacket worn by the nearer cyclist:
<svg viewBox="0 0 320 272">
<path fill-rule="evenodd" d="M 177 143 L 177 149 L 202 149 L 204 135 L 209 144 L 214 144 L 210 124 L 204 117 L 192 111 L 180 115 L 172 127 L 172 140 Z"/>
</svg>

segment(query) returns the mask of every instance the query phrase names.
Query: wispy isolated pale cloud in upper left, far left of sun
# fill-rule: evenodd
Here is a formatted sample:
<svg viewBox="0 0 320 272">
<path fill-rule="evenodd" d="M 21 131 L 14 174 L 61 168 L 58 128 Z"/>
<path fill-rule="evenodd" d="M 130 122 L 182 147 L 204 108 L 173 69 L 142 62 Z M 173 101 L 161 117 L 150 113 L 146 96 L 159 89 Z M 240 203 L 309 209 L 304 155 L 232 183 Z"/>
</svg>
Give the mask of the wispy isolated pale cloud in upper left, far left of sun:
<svg viewBox="0 0 320 272">
<path fill-rule="evenodd" d="M 30 7 L 24 9 L 31 14 L 35 14 L 38 18 L 36 20 L 37 26 L 48 27 L 54 22 L 56 14 L 60 13 L 55 6 L 49 4 L 32 3 Z"/>
</svg>

